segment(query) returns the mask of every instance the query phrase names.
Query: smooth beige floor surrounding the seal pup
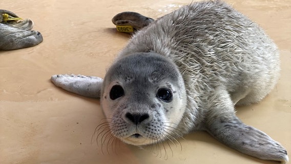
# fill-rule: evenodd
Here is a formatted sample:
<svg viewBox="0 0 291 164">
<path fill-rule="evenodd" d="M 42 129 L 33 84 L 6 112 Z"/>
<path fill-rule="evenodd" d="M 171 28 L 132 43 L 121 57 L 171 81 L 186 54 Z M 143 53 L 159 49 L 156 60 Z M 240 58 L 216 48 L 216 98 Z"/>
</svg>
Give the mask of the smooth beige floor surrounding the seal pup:
<svg viewBox="0 0 291 164">
<path fill-rule="evenodd" d="M 114 29 L 111 18 L 116 13 L 136 11 L 157 18 L 190 2 L 2 0 L 1 8 L 31 18 L 44 42 L 0 51 L 0 163 L 272 163 L 232 150 L 204 132 L 186 135 L 172 150 L 119 143 L 114 149 L 105 144 L 101 151 L 96 136 L 91 143 L 103 118 L 99 100 L 71 94 L 50 82 L 50 76 L 59 73 L 105 75 L 129 39 Z M 282 59 L 281 78 L 273 92 L 259 104 L 238 108 L 237 115 L 290 153 L 291 1 L 227 2 L 261 25 L 277 43 Z M 157 150 L 161 152 L 156 155 Z"/>
</svg>

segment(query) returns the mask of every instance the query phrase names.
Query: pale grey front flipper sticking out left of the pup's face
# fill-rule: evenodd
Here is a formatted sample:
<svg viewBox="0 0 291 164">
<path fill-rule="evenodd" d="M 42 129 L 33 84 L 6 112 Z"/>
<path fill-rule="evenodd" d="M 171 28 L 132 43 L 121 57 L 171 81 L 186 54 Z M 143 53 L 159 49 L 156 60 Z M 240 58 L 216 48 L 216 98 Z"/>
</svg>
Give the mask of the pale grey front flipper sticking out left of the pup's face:
<svg viewBox="0 0 291 164">
<path fill-rule="evenodd" d="M 103 79 L 83 75 L 53 75 L 51 81 L 57 87 L 63 88 L 86 97 L 100 98 Z"/>
</svg>

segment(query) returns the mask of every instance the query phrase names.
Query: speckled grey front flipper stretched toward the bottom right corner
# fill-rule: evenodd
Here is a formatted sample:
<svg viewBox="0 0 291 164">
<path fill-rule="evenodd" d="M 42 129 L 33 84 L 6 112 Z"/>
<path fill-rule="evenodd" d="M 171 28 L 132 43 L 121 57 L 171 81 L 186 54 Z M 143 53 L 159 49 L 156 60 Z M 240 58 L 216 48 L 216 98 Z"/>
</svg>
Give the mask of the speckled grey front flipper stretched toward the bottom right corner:
<svg viewBox="0 0 291 164">
<path fill-rule="evenodd" d="M 264 132 L 243 124 L 236 116 L 218 117 L 209 122 L 209 133 L 223 144 L 260 159 L 286 163 L 286 150 Z"/>
</svg>

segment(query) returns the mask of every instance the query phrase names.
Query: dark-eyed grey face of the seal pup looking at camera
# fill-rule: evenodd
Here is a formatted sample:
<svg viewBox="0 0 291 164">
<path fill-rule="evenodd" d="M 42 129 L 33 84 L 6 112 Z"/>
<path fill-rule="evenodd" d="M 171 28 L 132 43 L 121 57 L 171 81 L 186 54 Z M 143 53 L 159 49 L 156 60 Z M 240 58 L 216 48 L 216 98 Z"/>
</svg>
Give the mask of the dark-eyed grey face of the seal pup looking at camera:
<svg viewBox="0 0 291 164">
<path fill-rule="evenodd" d="M 186 106 L 183 79 L 161 55 L 134 54 L 107 72 L 101 105 L 111 133 L 132 145 L 174 140 Z"/>
</svg>

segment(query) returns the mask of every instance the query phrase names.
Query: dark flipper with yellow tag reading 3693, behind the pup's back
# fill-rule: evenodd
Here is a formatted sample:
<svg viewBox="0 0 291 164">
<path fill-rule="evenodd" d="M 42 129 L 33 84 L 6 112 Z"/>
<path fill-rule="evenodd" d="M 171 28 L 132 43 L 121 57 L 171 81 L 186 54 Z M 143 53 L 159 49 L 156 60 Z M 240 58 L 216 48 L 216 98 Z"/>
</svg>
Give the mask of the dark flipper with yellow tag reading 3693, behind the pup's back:
<svg viewBox="0 0 291 164">
<path fill-rule="evenodd" d="M 112 18 L 112 23 L 116 26 L 132 26 L 136 30 L 148 26 L 154 22 L 153 18 L 143 16 L 136 12 L 121 12 Z"/>
</svg>

